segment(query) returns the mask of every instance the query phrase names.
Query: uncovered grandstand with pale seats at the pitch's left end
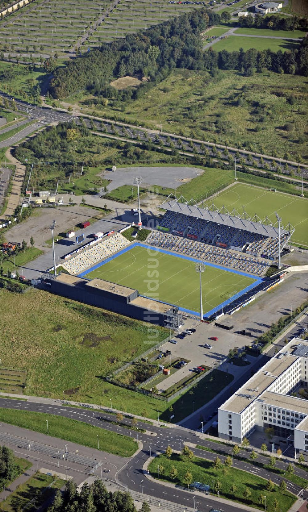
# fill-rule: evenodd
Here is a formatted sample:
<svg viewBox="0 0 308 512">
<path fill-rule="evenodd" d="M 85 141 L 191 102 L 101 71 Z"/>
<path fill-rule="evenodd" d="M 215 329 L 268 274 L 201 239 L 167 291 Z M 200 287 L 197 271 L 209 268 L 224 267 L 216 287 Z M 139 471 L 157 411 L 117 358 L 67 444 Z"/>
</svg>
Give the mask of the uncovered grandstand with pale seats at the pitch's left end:
<svg viewBox="0 0 308 512">
<path fill-rule="evenodd" d="M 62 267 L 70 274 L 80 274 L 83 270 L 93 267 L 107 256 L 123 249 L 129 241 L 121 233 L 114 233 L 109 237 L 104 237 L 96 244 L 87 246 L 84 250 L 73 254 L 69 260 L 66 260 Z"/>
</svg>

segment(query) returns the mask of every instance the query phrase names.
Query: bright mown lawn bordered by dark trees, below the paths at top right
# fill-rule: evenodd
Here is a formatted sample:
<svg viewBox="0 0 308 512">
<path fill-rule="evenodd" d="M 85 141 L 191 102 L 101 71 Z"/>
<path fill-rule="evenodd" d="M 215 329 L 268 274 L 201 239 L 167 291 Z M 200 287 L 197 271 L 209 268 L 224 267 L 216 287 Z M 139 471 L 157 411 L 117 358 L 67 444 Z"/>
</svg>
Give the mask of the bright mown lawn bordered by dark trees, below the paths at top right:
<svg viewBox="0 0 308 512">
<path fill-rule="evenodd" d="M 212 49 L 216 52 L 220 52 L 221 50 L 230 51 L 239 51 L 240 48 L 243 48 L 244 52 L 249 50 L 250 48 L 254 48 L 255 50 L 267 50 L 268 48 L 272 50 L 272 52 L 277 52 L 281 50 L 285 52 L 286 50 L 292 50 L 294 48 L 299 48 L 299 42 L 288 41 L 287 39 L 270 39 L 270 38 L 258 38 L 258 37 L 240 37 L 236 35 L 229 35 L 226 39 L 222 39 L 218 41 Z"/>
</svg>

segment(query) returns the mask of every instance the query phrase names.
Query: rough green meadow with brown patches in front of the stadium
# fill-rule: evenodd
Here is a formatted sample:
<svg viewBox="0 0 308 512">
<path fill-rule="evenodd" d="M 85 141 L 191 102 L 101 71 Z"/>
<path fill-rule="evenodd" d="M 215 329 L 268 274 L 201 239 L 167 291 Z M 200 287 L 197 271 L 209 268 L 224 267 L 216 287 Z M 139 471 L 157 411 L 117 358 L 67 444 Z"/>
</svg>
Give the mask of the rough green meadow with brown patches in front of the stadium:
<svg viewBox="0 0 308 512">
<path fill-rule="evenodd" d="M 114 409 L 153 419 L 159 414 L 163 420 L 169 419 L 172 405 L 179 421 L 192 400 L 201 407 L 232 380 L 215 370 L 174 400 L 157 400 L 105 380 L 151 347 L 145 344 L 147 325 L 42 290 L 21 295 L 0 289 L 0 309 L 2 365 L 27 371 L 29 395 L 63 398 L 64 390 L 66 400 L 110 407 L 111 399 Z M 18 322 L 12 322 L 14 317 Z M 157 327 L 153 344 L 167 336 L 169 330 Z"/>
</svg>

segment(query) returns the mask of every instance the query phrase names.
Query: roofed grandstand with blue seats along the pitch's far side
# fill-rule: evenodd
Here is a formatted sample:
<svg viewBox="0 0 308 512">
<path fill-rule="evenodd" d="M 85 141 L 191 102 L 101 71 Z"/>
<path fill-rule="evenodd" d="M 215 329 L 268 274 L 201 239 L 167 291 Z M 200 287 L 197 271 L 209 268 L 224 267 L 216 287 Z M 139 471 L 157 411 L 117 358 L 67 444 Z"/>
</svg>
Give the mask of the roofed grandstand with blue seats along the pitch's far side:
<svg viewBox="0 0 308 512">
<path fill-rule="evenodd" d="M 192 204 L 192 201 L 189 203 L 183 198 L 167 199 L 161 207 L 166 210 L 158 227 L 162 232 L 241 252 L 242 258 L 237 258 L 241 261 L 246 260 L 247 254 L 271 261 L 278 258 L 278 227 L 271 223 L 263 224 L 256 216 L 252 220 L 247 217 L 245 212 L 243 215 L 239 215 L 234 211 L 231 215 L 224 207 L 218 210 L 214 204 L 200 208 L 197 204 Z M 294 229 L 290 225 L 288 230 L 283 227 L 280 229 L 281 251 L 287 246 L 293 232 Z M 165 243 L 170 244 L 171 242 L 165 241 Z M 178 247 L 182 246 L 188 250 L 187 245 L 178 245 Z M 193 247 L 195 246 L 191 245 L 191 250 L 194 252 Z M 195 250 L 197 257 L 200 257 L 200 251 L 201 253 L 206 252 L 207 255 L 211 254 L 211 251 L 205 247 L 198 246 L 198 248 L 195 247 Z M 220 254 L 222 261 L 223 258 L 226 260 L 229 258 L 226 252 L 224 255 L 223 253 L 216 254 Z M 232 258 L 234 258 L 234 254 Z"/>
</svg>

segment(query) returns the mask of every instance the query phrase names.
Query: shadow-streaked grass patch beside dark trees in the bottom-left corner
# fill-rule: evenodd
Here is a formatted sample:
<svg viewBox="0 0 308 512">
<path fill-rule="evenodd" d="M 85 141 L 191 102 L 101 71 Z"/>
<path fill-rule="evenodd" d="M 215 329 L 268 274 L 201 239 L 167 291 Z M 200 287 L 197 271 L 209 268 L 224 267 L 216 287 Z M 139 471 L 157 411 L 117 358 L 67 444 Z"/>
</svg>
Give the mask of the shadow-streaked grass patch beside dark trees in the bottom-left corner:
<svg viewBox="0 0 308 512">
<path fill-rule="evenodd" d="M 18 506 L 21 507 L 20 510 L 26 509 L 25 507 L 33 500 L 33 495 L 37 490 L 39 490 L 41 495 L 37 499 L 36 504 L 42 505 L 45 500 L 53 496 L 55 489 L 61 489 L 63 485 L 64 480 L 59 478 L 54 480 L 50 475 L 35 473 L 33 477 L 18 486 L 13 493 L 1 503 L 1 510 L 5 512 L 15 512 Z M 34 508 L 31 507 L 31 510 L 34 510 Z"/>
</svg>

